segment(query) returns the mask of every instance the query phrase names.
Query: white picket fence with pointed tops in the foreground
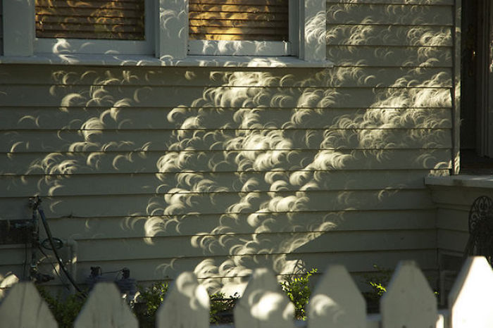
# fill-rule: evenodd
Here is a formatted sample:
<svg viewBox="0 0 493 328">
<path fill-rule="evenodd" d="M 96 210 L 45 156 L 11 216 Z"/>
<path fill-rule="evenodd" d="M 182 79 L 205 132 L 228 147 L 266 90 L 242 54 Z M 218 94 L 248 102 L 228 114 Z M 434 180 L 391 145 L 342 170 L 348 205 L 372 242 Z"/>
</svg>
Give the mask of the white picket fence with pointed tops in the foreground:
<svg viewBox="0 0 493 328">
<path fill-rule="evenodd" d="M 308 304 L 308 320 L 294 322 L 289 302 L 270 270 L 251 276 L 235 310 L 237 328 L 492 328 L 493 272 L 482 257 L 468 258 L 449 294 L 449 309 L 438 313 L 437 300 L 423 273 L 413 261 L 399 263 L 380 302 L 379 315 L 366 315 L 366 305 L 342 265 L 330 265 L 320 278 Z M 158 309 L 156 327 L 209 327 L 209 298 L 192 272 L 182 273 Z M 35 286 L 13 286 L 0 304 L 0 327 L 57 327 L 53 315 Z M 137 320 L 116 286 L 94 286 L 75 321 L 82 327 L 138 327 Z"/>
</svg>

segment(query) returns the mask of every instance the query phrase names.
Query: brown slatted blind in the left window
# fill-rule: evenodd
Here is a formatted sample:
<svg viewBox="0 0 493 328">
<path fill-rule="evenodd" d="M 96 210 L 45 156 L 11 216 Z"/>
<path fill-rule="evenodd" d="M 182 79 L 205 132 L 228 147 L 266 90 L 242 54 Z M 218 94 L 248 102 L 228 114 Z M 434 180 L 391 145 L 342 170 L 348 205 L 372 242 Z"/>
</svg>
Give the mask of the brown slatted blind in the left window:
<svg viewBox="0 0 493 328">
<path fill-rule="evenodd" d="M 145 37 L 144 0 L 36 0 L 35 8 L 39 38 Z"/>
</svg>

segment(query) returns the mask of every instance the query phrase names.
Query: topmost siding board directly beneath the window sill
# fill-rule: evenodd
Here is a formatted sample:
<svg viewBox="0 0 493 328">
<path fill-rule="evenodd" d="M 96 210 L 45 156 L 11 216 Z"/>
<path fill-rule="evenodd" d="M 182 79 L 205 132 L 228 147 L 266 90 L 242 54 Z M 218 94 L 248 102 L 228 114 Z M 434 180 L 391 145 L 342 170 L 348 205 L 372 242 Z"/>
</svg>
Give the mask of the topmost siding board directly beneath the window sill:
<svg viewBox="0 0 493 328">
<path fill-rule="evenodd" d="M 375 48 L 368 48 L 367 53 L 373 53 Z M 98 74 L 98 70 L 87 70 L 87 68 L 77 66 L 53 66 L 46 65 L 36 68 L 37 74 L 32 74 L 32 68 L 28 65 L 3 65 L 0 74 L 0 84 L 3 85 L 22 85 L 30 87 L 32 85 L 51 85 L 58 86 L 77 85 L 81 87 L 96 86 L 134 86 L 156 87 L 392 87 L 396 81 L 406 81 L 409 86 L 426 85 L 427 87 L 451 87 L 452 71 L 451 68 L 434 68 L 433 62 L 427 67 L 394 67 L 392 60 L 399 48 L 382 49 L 377 51 L 377 55 L 382 54 L 388 67 L 371 67 L 353 65 L 347 67 L 338 65 L 330 70 L 320 70 L 319 68 L 306 68 L 303 70 L 289 68 L 275 68 L 275 70 L 262 70 L 261 72 L 251 69 L 235 68 L 201 68 L 189 70 L 189 68 L 105 68 L 104 74 Z M 437 48 L 438 49 L 438 48 Z M 386 54 L 387 52 L 388 54 Z M 347 49 L 348 56 L 352 51 L 357 51 L 354 46 Z M 390 51 L 393 51 L 390 53 Z M 425 54 L 425 49 L 419 49 L 420 53 Z M 363 51 L 365 52 L 365 51 Z M 437 52 L 437 51 L 436 51 Z M 442 49 L 442 52 L 443 49 Z M 438 57 L 432 57 L 438 61 Z M 360 53 L 361 54 L 361 53 Z M 437 53 L 438 54 L 438 53 Z M 361 56 L 363 62 L 367 56 Z M 426 57 L 428 58 L 428 57 Z M 409 57 L 399 58 L 401 60 L 411 60 Z M 29 76 L 29 81 L 25 76 Z M 354 78 L 348 78 L 354 75 Z M 296 76 L 296 79 L 289 78 Z M 343 78 L 344 77 L 344 78 Z M 252 85 L 254 83 L 254 85 Z M 272 108 L 273 106 L 269 106 Z M 0 107 L 1 108 L 1 107 Z M 139 106 L 142 108 L 142 106 Z M 163 106 L 164 108 L 164 106 Z M 268 110 L 269 108 L 263 108 Z M 35 109 L 35 108 L 33 108 Z M 122 108 L 124 109 L 124 108 Z"/>
</svg>

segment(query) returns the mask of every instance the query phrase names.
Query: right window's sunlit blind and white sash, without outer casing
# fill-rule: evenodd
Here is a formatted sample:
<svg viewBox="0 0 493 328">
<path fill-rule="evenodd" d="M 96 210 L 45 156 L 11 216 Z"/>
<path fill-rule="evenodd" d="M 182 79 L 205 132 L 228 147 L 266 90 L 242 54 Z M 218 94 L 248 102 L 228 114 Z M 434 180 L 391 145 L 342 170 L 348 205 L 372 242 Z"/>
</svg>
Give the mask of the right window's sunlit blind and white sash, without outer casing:
<svg viewBox="0 0 493 328">
<path fill-rule="evenodd" d="M 289 2 L 292 8 L 289 8 Z M 289 56 L 289 0 L 189 0 L 188 54 Z"/>
</svg>

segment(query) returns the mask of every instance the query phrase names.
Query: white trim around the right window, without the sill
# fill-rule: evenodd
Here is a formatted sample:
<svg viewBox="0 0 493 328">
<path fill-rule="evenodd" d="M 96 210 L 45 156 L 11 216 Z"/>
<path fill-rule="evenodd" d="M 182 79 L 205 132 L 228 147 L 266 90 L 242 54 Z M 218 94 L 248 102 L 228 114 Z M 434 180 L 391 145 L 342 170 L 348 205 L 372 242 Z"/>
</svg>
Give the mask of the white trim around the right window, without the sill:
<svg viewBox="0 0 493 328">
<path fill-rule="evenodd" d="M 158 30 L 156 39 L 156 56 L 163 60 L 193 59 L 189 57 L 193 57 L 194 54 L 205 56 L 285 56 L 288 54 L 287 51 L 292 53 L 294 50 L 296 57 L 301 61 L 326 61 L 325 0 L 290 1 L 290 7 L 295 10 L 289 12 L 298 14 L 297 18 L 294 18 L 297 20 L 294 25 L 290 15 L 290 39 L 296 41 L 293 46 L 285 45 L 284 49 L 279 44 L 270 44 L 270 42 L 263 44 L 261 42 L 190 42 L 188 39 L 188 1 L 159 0 L 158 6 L 161 28 Z M 298 28 L 294 27 L 295 25 Z M 208 46 L 204 46 L 204 44 Z M 280 47 L 282 51 L 279 51 L 277 47 Z M 258 49 L 262 50 L 259 52 Z M 192 56 L 190 56 L 191 53 Z"/>
</svg>

